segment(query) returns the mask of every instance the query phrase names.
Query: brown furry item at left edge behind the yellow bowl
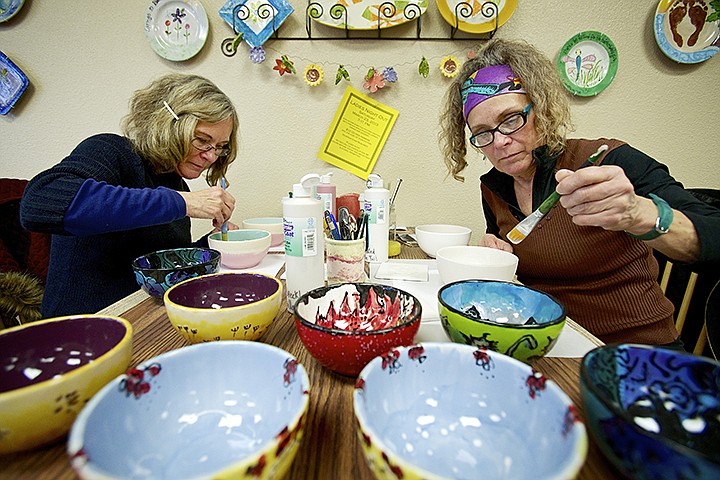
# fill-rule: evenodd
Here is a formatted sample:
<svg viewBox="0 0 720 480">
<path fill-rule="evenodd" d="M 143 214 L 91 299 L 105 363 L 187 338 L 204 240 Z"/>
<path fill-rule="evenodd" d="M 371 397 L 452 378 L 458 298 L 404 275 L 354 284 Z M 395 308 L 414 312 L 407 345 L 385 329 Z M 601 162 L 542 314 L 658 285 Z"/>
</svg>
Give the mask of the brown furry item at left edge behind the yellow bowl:
<svg viewBox="0 0 720 480">
<path fill-rule="evenodd" d="M 0 272 L 0 329 L 40 320 L 44 288 L 27 273 Z"/>
</svg>

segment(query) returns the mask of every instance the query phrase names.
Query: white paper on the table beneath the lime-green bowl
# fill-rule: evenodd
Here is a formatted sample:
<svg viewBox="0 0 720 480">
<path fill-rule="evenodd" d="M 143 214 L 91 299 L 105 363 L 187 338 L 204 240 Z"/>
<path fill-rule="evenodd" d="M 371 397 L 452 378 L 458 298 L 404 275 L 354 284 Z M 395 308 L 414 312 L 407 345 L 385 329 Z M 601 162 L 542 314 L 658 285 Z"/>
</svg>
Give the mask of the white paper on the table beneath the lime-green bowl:
<svg viewBox="0 0 720 480">
<path fill-rule="evenodd" d="M 419 265 L 428 266 L 427 282 L 410 282 L 405 280 L 383 280 L 373 278 L 373 281 L 385 285 L 391 285 L 400 290 L 406 291 L 414 295 L 420 301 L 422 306 L 422 319 L 420 320 L 420 328 L 415 336 L 415 342 L 449 342 L 445 330 L 440 323 L 440 313 L 438 311 L 437 293 L 442 287 L 440 274 L 437 270 L 437 262 L 435 260 L 389 260 L 388 263 L 417 263 Z M 548 357 L 583 357 L 587 352 L 597 347 L 589 338 L 567 323 L 563 327 L 558 341 L 555 346 L 548 352 Z"/>
</svg>

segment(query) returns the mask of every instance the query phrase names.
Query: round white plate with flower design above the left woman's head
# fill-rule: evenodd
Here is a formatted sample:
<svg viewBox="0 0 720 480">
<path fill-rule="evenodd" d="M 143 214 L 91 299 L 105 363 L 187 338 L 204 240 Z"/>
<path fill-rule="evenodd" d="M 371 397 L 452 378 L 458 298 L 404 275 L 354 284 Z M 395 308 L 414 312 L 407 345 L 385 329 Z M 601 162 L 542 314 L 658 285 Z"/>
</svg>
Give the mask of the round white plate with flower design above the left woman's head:
<svg viewBox="0 0 720 480">
<path fill-rule="evenodd" d="M 207 15 L 198 0 L 150 2 L 145 15 L 145 36 L 161 57 L 174 62 L 192 58 L 205 45 L 207 34 Z"/>
</svg>

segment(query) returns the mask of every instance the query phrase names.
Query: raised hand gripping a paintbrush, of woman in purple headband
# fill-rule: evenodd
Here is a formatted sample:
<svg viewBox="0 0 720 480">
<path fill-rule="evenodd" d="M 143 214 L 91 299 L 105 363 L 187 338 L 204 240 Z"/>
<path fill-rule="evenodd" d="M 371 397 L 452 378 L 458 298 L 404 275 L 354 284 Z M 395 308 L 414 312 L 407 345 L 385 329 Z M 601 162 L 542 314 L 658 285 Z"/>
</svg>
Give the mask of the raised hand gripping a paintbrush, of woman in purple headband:
<svg viewBox="0 0 720 480">
<path fill-rule="evenodd" d="M 639 197 L 622 168 L 616 165 L 558 170 L 560 204 L 577 225 L 642 234 L 655 225 L 657 208 Z"/>
</svg>

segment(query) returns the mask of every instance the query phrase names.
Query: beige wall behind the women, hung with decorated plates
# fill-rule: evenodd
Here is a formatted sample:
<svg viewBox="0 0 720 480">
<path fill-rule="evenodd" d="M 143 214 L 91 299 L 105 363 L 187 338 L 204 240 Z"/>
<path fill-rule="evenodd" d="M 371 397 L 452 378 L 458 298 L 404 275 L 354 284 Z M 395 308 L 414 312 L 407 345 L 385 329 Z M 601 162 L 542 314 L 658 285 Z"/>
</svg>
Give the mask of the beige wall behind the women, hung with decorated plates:
<svg viewBox="0 0 720 480">
<path fill-rule="evenodd" d="M 345 90 L 334 85 L 337 65 L 346 65 L 358 89 L 370 66 L 390 65 L 399 82 L 376 98 L 400 115 L 375 172 L 404 180 L 398 221 L 467 225 L 475 238 L 484 230 L 477 178 L 489 164 L 473 153 L 464 184 L 446 179 L 436 140 L 448 84 L 438 64 L 451 53 L 463 59 L 476 41 L 271 39 L 265 44 L 268 59 L 255 65 L 244 45 L 235 57 L 222 54 L 220 44 L 232 34 L 217 14 L 224 0 L 202 1 L 210 20 L 208 41 L 195 58 L 176 63 L 156 55 L 145 39 L 149 0 L 26 0 L 15 18 L 0 24 L 0 50 L 30 79 L 17 106 L 0 117 L 0 177 L 30 178 L 60 161 L 84 137 L 118 132 L 134 90 L 167 71 L 193 72 L 214 80 L 240 112 L 242 149 L 228 176 L 238 200 L 233 221 L 279 215 L 280 197 L 303 174 L 336 170 L 316 154 Z M 291 3 L 296 11 L 281 33 L 303 37 L 306 3 Z M 449 26 L 430 3 L 423 36 L 447 37 Z M 652 31 L 656 6 L 657 0 L 520 0 L 497 35 L 524 38 L 553 59 L 575 33 L 608 35 L 619 51 L 617 76 L 597 97 L 572 99 L 574 136 L 624 139 L 666 163 L 686 186 L 717 188 L 720 55 L 697 65 L 666 58 Z M 402 28 L 398 34 L 405 32 Z M 311 62 L 321 64 L 325 82 L 311 88 L 299 76 L 278 76 L 272 66 L 281 54 L 300 70 Z M 431 66 L 426 79 L 417 74 L 422 56 Z M 364 188 L 362 180 L 342 171 L 336 170 L 335 182 L 341 193 Z M 195 223 L 194 233 L 208 228 L 207 222 Z"/>
</svg>

